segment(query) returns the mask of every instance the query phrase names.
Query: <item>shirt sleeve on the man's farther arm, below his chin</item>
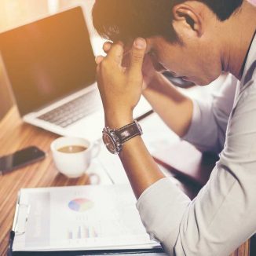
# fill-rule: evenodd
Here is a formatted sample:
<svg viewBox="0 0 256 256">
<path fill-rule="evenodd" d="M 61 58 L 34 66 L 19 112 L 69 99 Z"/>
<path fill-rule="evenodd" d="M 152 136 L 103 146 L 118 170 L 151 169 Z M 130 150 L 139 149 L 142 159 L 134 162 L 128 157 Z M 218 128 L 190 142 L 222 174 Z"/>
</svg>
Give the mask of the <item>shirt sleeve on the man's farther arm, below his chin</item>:
<svg viewBox="0 0 256 256">
<path fill-rule="evenodd" d="M 193 100 L 192 123 L 183 139 L 200 151 L 221 152 L 225 132 L 236 94 L 237 79 L 228 75 L 221 90 L 210 100 Z"/>
</svg>

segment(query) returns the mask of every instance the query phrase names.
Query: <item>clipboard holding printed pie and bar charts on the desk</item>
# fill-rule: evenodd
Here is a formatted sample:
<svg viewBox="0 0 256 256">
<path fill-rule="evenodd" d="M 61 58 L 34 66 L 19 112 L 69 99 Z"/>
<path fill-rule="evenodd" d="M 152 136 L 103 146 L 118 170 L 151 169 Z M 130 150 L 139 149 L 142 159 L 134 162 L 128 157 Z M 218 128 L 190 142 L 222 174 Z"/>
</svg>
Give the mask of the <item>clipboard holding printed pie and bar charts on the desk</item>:
<svg viewBox="0 0 256 256">
<path fill-rule="evenodd" d="M 49 203 L 49 205 L 51 206 L 50 209 L 48 209 L 49 207 L 46 207 L 46 202 L 44 203 L 43 200 L 40 201 L 40 195 L 41 195 L 41 199 L 42 199 L 42 195 L 46 195 L 46 192 L 50 192 L 51 194 L 48 195 L 47 199 L 50 198 L 51 200 L 47 203 Z M 79 220 L 80 218 L 84 218 L 86 219 L 86 221 L 88 221 L 88 216 L 86 215 L 87 212 L 90 211 L 90 216 L 93 216 L 93 221 L 97 221 L 97 217 L 94 217 L 94 214 L 97 213 L 97 211 L 99 209 L 101 209 L 101 206 L 99 206 L 99 202 L 97 202 L 97 200 L 95 200 L 95 204 L 97 204 L 97 206 L 93 206 L 92 209 L 88 210 L 84 210 L 84 212 L 76 212 L 77 209 L 74 208 L 73 204 L 68 204 L 69 203 L 74 203 L 74 201 L 70 201 L 70 198 L 72 196 L 70 196 L 70 198 L 66 198 L 65 197 L 65 192 L 68 192 L 68 195 L 72 195 L 72 193 L 74 195 L 83 195 L 83 196 L 87 196 L 88 198 L 90 198 L 91 195 L 95 195 L 97 194 L 97 196 L 94 196 L 95 198 L 98 198 L 99 196 L 101 197 L 103 195 L 103 193 L 105 195 L 107 195 L 108 199 L 112 199 L 114 202 L 114 206 L 115 207 L 120 207 L 118 210 L 122 211 L 123 210 L 123 206 L 128 206 L 127 208 L 127 216 L 130 214 L 133 214 L 133 209 L 130 209 L 132 204 L 133 204 L 133 198 L 131 198 L 131 196 L 133 196 L 133 194 L 131 195 L 130 193 L 132 193 L 131 189 L 129 186 L 126 185 L 105 185 L 105 186 L 101 186 L 101 185 L 97 185 L 97 186 L 91 186 L 91 185 L 87 185 L 87 186 L 75 186 L 75 187 L 63 187 L 63 188 L 25 188 L 25 189 L 21 189 L 21 191 L 19 192 L 18 195 L 18 199 L 16 202 L 16 211 L 15 211 L 15 215 L 14 215 L 14 219 L 13 219 L 13 229 L 10 232 L 10 240 L 9 240 L 9 251 L 8 251 L 8 255 L 9 256 L 22 256 L 22 255 L 74 255 L 74 256 L 79 256 L 79 255 L 101 255 L 101 254 L 115 254 L 115 255 L 121 255 L 121 254 L 140 254 L 143 255 L 145 254 L 146 256 L 151 256 L 151 255 L 165 255 L 163 253 L 163 249 L 159 246 L 157 246 L 157 244 L 159 243 L 155 243 L 155 242 L 150 242 L 150 240 L 148 239 L 144 239 L 144 232 L 138 232 L 138 233 L 134 233 L 134 237 L 130 236 L 130 230 L 127 229 L 127 233 L 123 232 L 123 229 L 120 229 L 121 231 L 121 238 L 120 238 L 120 243 L 117 242 L 112 243 L 112 237 L 110 237 L 110 243 L 108 243 L 108 237 L 107 237 L 107 243 L 105 242 L 105 238 L 100 233 L 100 229 L 98 232 L 97 236 L 92 236 L 92 237 L 88 237 L 86 236 L 86 238 L 82 237 L 82 239 L 80 239 L 80 237 L 78 237 L 78 232 L 74 232 L 74 237 L 71 237 L 71 239 L 69 240 L 69 238 L 67 238 L 66 236 L 68 236 L 68 232 L 65 235 L 65 240 L 64 240 L 64 247 L 59 247 L 56 246 L 56 237 L 54 240 L 54 236 L 55 235 L 54 232 L 58 232 L 57 237 L 59 237 L 60 235 L 60 242 L 62 242 L 61 240 L 61 235 L 63 233 L 63 231 L 59 229 L 54 229 L 56 228 L 56 224 L 55 223 L 51 223 L 49 224 L 49 222 L 54 222 L 56 221 L 55 217 L 53 216 L 54 214 L 56 215 L 56 212 L 58 212 L 60 210 L 60 215 L 65 215 L 64 210 L 61 210 L 61 205 L 64 205 L 66 207 L 66 211 L 68 213 L 68 218 L 72 218 L 73 215 L 75 216 L 75 220 L 77 221 L 78 217 Z M 85 192 L 85 193 L 84 193 Z M 117 193 L 116 193 L 117 192 Z M 120 193 L 119 193 L 120 192 Z M 84 194 L 82 194 L 84 193 Z M 86 194 L 87 193 L 87 194 Z M 116 194 L 116 198 L 115 198 L 115 194 Z M 123 195 L 120 197 L 120 194 Z M 114 196 L 113 196 L 114 195 Z M 29 197 L 31 196 L 31 197 Z M 62 197 L 61 197 L 62 196 Z M 21 198 L 21 199 L 20 199 Z M 33 200 L 31 200 L 34 199 Z M 44 196 L 44 198 L 46 198 L 46 196 Z M 57 199 L 57 202 L 55 201 L 55 199 Z M 93 200 L 93 196 L 91 196 L 91 199 Z M 118 204 L 116 204 L 115 202 L 121 203 L 121 205 L 119 206 Z M 27 202 L 27 203 L 26 203 Z M 33 205 L 33 202 L 36 202 L 36 208 L 35 205 Z M 100 201 L 101 202 L 101 201 Z M 105 204 L 104 204 L 105 203 Z M 106 199 L 104 198 L 104 207 L 106 205 L 108 205 L 108 203 L 110 203 L 110 209 L 113 210 L 113 216 L 115 216 L 115 209 L 112 208 L 113 205 L 111 205 L 111 202 L 107 202 L 106 204 Z M 132 204 L 131 204 L 132 203 Z M 49 216 L 51 216 L 51 219 L 49 221 L 49 219 L 47 219 L 46 216 L 46 221 L 42 221 L 42 218 L 45 218 L 45 214 L 43 212 L 41 212 L 40 210 L 40 205 L 42 204 L 43 207 L 47 208 L 47 211 L 50 211 Z M 53 206 L 53 209 L 52 209 Z M 90 206 L 89 204 L 87 205 L 87 207 Z M 59 208 L 60 207 L 60 208 Z M 69 209 L 68 209 L 69 207 Z M 99 207 L 99 208 L 98 208 Z M 35 209 L 37 209 L 37 211 L 35 212 Z M 75 211 L 74 211 L 75 209 Z M 72 210 L 74 212 L 72 212 Z M 34 213 L 33 213 L 34 211 Z M 37 215 L 38 214 L 38 215 Z M 41 214 L 41 215 L 40 215 Z M 102 214 L 102 212 L 100 213 Z M 108 217 L 109 214 L 109 209 L 106 209 L 106 216 Z M 40 219 L 40 221 L 37 222 L 33 222 L 33 218 L 34 217 L 38 217 L 36 218 L 36 220 Z M 48 216 L 48 217 L 49 217 Z M 86 216 L 86 218 L 85 218 Z M 101 216 L 101 215 L 100 215 Z M 117 216 L 117 215 L 116 215 Z M 124 218 L 126 218 L 127 216 L 124 216 Z M 136 217 L 136 214 L 134 215 Z M 102 222 L 104 222 L 105 220 L 108 220 L 108 218 L 106 217 L 106 219 L 101 219 Z M 59 219 L 61 219 L 61 221 L 64 219 L 65 220 L 65 216 L 58 216 Z M 95 218 L 95 220 L 94 220 Z M 123 215 L 122 215 L 123 218 Z M 121 224 L 123 223 L 123 219 L 121 218 Z M 112 220 L 115 221 L 115 219 L 113 218 Z M 140 228 L 140 223 L 137 223 L 137 218 L 131 218 L 131 221 L 134 221 L 134 230 L 142 230 Z M 86 224 L 86 221 L 82 221 L 82 225 L 89 225 L 88 223 Z M 117 221 L 119 221 L 119 218 L 117 218 Z M 129 223 L 130 220 L 128 220 L 127 223 Z M 125 221 L 124 221 L 125 222 Z M 38 243 L 38 240 L 32 240 L 32 242 L 29 241 L 30 239 L 30 235 L 28 234 L 28 232 L 31 232 L 31 225 L 38 225 L 38 227 L 41 225 L 45 225 L 46 223 L 48 223 L 49 225 L 49 229 L 48 232 L 44 233 L 43 237 L 47 237 L 49 238 L 49 240 L 51 240 L 53 238 L 53 241 L 51 240 L 49 245 L 47 244 L 46 247 L 44 247 L 45 249 L 40 250 L 40 247 L 38 247 L 37 244 L 33 244 L 33 243 Z M 76 223 L 76 222 L 71 222 L 72 224 Z M 94 223 L 94 222 L 93 222 Z M 115 222 L 113 222 L 115 223 Z M 62 222 L 60 222 L 60 224 L 62 225 Z M 138 225 L 139 224 L 139 225 Z M 53 226 L 52 226 L 53 225 Z M 55 226 L 54 226 L 55 225 Z M 65 225 L 70 225 L 70 223 L 67 223 L 64 221 L 64 230 L 68 230 L 66 229 Z M 102 225 L 102 229 L 104 230 L 104 228 L 106 225 L 104 226 L 104 224 Z M 97 226 L 97 225 L 96 225 Z M 143 226 L 142 226 L 143 228 Z M 40 229 L 39 229 L 40 230 Z M 50 231 L 49 231 L 50 230 Z M 77 229 L 75 229 L 77 230 Z M 97 229 L 96 229 L 97 230 Z M 113 229 L 115 230 L 115 229 Z M 126 229 L 124 229 L 126 230 Z M 53 231 L 53 232 L 52 232 Z M 60 231 L 60 233 L 59 233 Z M 119 231 L 119 229 L 117 229 L 117 231 Z M 143 230 L 142 230 L 143 231 Z M 27 233 L 26 233 L 27 232 Z M 85 234 L 84 232 L 82 234 Z M 141 235 L 142 234 L 142 235 Z M 145 233 L 145 235 L 147 235 Z M 34 236 L 34 235 L 33 235 Z M 49 236 L 49 237 L 48 237 Z M 80 230 L 80 236 L 81 236 L 81 230 Z M 116 236 L 116 234 L 115 234 Z M 114 236 L 114 237 L 115 237 Z M 39 240 L 42 238 L 42 236 L 38 236 Z M 127 237 L 127 243 L 126 243 L 126 237 Z M 137 239 L 138 237 L 138 243 L 134 243 L 134 238 Z M 93 240 L 93 242 L 95 243 L 90 243 L 91 240 Z M 141 239 L 141 240 L 140 240 Z M 13 247 L 13 241 L 16 240 L 16 250 L 14 250 Z M 68 247 L 68 243 L 66 244 L 66 241 L 72 243 L 73 241 L 76 242 L 77 240 L 80 240 L 80 242 L 82 243 L 78 243 L 79 246 L 76 247 Z M 94 241 L 95 240 L 95 241 Z M 117 240 L 119 240 L 119 238 L 117 238 Z M 28 241 L 28 242 L 27 242 Z M 41 240 L 39 241 L 41 243 Z M 53 243 L 52 243 L 53 242 Z M 59 241 L 58 241 L 59 242 Z M 87 243 L 88 242 L 88 243 Z M 103 242 L 101 244 L 101 242 Z M 28 243 L 30 243 L 30 245 L 27 245 Z M 55 244 L 56 243 L 56 244 Z M 33 246 L 31 246 L 31 244 L 33 244 Z M 42 244 L 44 244 L 44 241 L 42 241 Z M 82 244 L 82 246 L 81 246 Z M 113 246 L 112 246 L 113 244 Z M 122 245 L 123 244 L 123 245 Z M 134 244 L 134 246 L 133 246 Z M 61 243 L 60 243 L 61 245 Z M 86 246 L 84 246 L 86 245 Z M 35 246 L 35 251 L 33 250 Z M 21 250 L 19 250 L 19 248 L 21 248 Z M 24 248 L 24 249 L 22 249 Z M 43 246 L 42 246 L 43 248 Z M 62 249 L 63 248 L 63 249 Z M 55 250 L 57 249 L 57 250 Z M 83 251 L 85 250 L 85 251 Z"/>
</svg>

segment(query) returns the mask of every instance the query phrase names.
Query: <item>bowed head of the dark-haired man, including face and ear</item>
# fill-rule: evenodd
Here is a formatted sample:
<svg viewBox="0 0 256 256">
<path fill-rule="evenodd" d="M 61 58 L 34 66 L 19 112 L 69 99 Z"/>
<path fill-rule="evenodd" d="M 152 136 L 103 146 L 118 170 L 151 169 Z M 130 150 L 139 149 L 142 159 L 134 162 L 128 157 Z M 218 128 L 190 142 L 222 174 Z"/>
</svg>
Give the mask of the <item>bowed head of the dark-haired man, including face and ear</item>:
<svg viewBox="0 0 256 256">
<path fill-rule="evenodd" d="M 199 85 L 223 69 L 218 32 L 243 0 L 96 0 L 93 24 L 104 38 L 146 38 L 152 61 Z M 159 66 L 158 65 L 158 66 Z"/>
</svg>

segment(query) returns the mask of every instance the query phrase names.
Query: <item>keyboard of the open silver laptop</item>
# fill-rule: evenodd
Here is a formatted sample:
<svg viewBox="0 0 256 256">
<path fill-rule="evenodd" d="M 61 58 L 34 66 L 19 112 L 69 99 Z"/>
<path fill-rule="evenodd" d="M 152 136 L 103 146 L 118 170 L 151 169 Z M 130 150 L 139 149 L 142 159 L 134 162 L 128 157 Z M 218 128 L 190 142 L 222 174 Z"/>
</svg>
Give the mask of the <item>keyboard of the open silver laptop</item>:
<svg viewBox="0 0 256 256">
<path fill-rule="evenodd" d="M 90 115 L 101 108 L 101 99 L 96 90 L 86 93 L 81 97 L 75 98 L 46 114 L 38 116 L 38 119 L 49 123 L 54 123 L 63 128 L 79 121 L 86 115 Z"/>
</svg>

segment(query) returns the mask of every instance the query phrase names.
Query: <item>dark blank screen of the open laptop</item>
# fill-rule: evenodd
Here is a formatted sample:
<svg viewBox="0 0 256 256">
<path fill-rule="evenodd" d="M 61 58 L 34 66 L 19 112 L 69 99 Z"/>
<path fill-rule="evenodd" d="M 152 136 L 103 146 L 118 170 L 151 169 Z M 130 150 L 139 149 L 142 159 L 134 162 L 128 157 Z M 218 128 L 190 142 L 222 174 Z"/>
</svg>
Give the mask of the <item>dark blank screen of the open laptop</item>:
<svg viewBox="0 0 256 256">
<path fill-rule="evenodd" d="M 95 82 L 81 7 L 3 32 L 0 50 L 20 115 Z"/>
</svg>

